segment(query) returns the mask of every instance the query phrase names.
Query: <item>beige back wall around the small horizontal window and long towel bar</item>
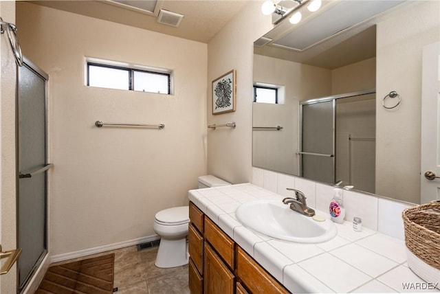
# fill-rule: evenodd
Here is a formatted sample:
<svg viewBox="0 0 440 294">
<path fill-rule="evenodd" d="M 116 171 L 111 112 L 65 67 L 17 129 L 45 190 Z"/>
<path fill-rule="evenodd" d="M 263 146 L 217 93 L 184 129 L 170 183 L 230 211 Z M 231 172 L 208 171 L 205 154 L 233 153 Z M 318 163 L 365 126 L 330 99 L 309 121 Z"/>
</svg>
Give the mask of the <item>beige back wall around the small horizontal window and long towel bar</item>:
<svg viewBox="0 0 440 294">
<path fill-rule="evenodd" d="M 52 256 L 153 236 L 206 174 L 207 45 L 24 2 L 17 23 L 50 76 Z M 172 69 L 174 95 L 87 87 L 85 56 Z"/>
</svg>

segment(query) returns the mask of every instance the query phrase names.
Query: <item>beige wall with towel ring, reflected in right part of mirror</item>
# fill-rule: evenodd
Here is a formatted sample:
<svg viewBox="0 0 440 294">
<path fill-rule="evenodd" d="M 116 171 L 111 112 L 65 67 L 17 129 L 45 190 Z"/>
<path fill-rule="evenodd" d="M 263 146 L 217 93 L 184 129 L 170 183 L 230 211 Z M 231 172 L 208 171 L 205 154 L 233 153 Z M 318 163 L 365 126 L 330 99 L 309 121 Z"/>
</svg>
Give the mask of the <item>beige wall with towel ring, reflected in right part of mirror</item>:
<svg viewBox="0 0 440 294">
<path fill-rule="evenodd" d="M 377 25 L 377 194 L 419 202 L 422 48 L 439 39 L 439 1 L 412 1 Z M 388 110 L 390 91 L 401 104 Z"/>
</svg>

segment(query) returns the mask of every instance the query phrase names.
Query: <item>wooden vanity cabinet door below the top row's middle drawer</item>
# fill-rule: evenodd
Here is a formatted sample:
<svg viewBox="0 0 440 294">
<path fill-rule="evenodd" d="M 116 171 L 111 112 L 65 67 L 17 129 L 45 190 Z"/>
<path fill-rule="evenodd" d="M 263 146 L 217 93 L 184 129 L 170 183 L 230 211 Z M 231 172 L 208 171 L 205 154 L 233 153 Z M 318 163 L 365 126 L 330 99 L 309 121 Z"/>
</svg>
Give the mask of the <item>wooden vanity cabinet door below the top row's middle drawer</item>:
<svg viewBox="0 0 440 294">
<path fill-rule="evenodd" d="M 210 294 L 233 294 L 235 287 L 234 275 L 221 261 L 210 245 L 205 243 L 204 289 Z"/>
</svg>

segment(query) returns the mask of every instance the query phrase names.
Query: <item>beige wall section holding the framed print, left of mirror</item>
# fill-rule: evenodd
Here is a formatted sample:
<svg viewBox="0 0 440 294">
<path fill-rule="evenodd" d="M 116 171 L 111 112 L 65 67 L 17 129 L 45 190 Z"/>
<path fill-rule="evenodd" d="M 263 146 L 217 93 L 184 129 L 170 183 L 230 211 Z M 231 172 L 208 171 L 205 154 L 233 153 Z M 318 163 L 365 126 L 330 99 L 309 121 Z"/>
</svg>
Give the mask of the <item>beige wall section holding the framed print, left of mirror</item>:
<svg viewBox="0 0 440 294">
<path fill-rule="evenodd" d="M 252 63 L 254 41 L 272 28 L 263 1 L 245 8 L 208 43 L 208 123 L 236 122 L 235 129 L 208 131 L 208 173 L 230 183 L 252 178 Z M 236 69 L 236 111 L 212 115 L 212 80 Z M 206 126 L 205 126 L 206 127 Z"/>
</svg>

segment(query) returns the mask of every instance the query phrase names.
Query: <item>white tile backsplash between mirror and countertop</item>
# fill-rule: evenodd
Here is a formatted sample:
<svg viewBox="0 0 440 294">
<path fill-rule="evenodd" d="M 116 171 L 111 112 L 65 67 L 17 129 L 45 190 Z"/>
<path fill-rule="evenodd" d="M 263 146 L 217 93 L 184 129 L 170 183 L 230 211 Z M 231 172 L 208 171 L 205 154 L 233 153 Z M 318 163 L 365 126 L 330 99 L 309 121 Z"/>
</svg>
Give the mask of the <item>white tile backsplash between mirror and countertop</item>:
<svg viewBox="0 0 440 294">
<path fill-rule="evenodd" d="M 301 177 L 277 174 L 261 168 L 252 168 L 252 183 L 270 191 L 276 191 L 282 196 L 292 196 L 285 188 L 294 188 L 305 193 L 307 205 L 316 210 L 328 213 L 329 203 L 333 198 L 333 187 L 316 183 Z M 346 220 L 353 220 L 354 216 L 362 218 L 364 228 L 379 231 L 382 234 L 404 240 L 404 223 L 401 212 L 410 207 L 410 204 L 382 199 L 380 197 L 361 192 L 344 190 L 344 207 Z M 351 237 L 356 237 L 353 235 Z"/>
</svg>

